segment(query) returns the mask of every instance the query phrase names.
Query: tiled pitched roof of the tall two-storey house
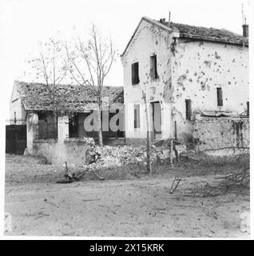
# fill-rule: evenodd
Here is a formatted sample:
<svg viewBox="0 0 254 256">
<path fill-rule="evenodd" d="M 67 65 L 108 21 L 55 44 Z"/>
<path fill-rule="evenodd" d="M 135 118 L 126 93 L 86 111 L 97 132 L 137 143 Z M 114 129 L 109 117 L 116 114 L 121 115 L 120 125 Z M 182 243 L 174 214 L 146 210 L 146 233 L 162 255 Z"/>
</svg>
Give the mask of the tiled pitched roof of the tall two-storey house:
<svg viewBox="0 0 254 256">
<path fill-rule="evenodd" d="M 174 22 L 170 22 L 169 26 L 169 22 L 166 22 L 165 20 L 156 21 L 152 18 L 142 17 L 121 56 L 125 54 L 142 21 L 159 26 L 161 29 L 168 31 L 169 33 L 172 33 L 173 31 L 179 32 L 180 38 L 192 38 L 195 40 L 204 40 L 210 42 L 224 42 L 241 46 L 244 44 L 245 46 L 248 46 L 248 38 L 244 38 L 244 36 L 228 30 L 207 28 L 203 26 L 190 26 Z"/>
</svg>

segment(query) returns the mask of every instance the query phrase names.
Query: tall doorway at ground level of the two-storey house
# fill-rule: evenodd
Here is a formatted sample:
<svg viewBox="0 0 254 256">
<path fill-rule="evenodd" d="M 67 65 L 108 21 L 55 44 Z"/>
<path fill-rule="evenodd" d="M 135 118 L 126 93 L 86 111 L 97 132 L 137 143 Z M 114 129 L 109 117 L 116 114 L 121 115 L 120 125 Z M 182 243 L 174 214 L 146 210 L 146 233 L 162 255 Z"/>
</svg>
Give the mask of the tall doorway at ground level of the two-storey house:
<svg viewBox="0 0 254 256">
<path fill-rule="evenodd" d="M 161 139 L 161 103 L 151 102 L 152 139 Z"/>
</svg>

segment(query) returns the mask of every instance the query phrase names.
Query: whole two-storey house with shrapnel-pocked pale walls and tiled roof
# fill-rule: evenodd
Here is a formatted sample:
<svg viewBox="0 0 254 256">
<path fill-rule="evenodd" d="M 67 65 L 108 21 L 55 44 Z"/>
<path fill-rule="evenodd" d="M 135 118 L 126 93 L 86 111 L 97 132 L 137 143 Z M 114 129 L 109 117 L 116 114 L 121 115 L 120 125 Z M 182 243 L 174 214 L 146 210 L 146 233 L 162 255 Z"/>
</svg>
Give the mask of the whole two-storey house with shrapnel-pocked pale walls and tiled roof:
<svg viewBox="0 0 254 256">
<path fill-rule="evenodd" d="M 198 124 L 219 119 L 218 126 L 223 123 L 216 132 L 219 140 L 225 124 L 247 130 L 238 134 L 248 134 L 248 25 L 243 30 L 239 35 L 165 18 L 141 18 L 121 54 L 126 142 L 142 143 L 147 136 L 144 93 L 153 140 L 199 141 L 206 149 L 209 127 L 214 126 Z M 239 122 L 243 125 L 236 125 Z M 203 133 L 203 128 L 208 131 Z"/>
</svg>

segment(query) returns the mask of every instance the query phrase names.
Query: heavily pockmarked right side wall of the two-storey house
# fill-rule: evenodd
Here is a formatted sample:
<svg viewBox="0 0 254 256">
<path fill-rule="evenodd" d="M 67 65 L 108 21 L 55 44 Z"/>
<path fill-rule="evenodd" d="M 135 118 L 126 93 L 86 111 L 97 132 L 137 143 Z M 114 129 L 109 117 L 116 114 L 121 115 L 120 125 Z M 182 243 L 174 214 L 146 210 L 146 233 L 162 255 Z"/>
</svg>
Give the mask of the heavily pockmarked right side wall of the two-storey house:
<svg viewBox="0 0 254 256">
<path fill-rule="evenodd" d="M 191 133 L 185 120 L 185 99 L 193 110 L 241 113 L 249 98 L 248 48 L 214 42 L 180 40 L 172 62 L 174 120 L 180 138 Z M 216 87 L 223 90 L 223 106 L 217 106 Z"/>
</svg>

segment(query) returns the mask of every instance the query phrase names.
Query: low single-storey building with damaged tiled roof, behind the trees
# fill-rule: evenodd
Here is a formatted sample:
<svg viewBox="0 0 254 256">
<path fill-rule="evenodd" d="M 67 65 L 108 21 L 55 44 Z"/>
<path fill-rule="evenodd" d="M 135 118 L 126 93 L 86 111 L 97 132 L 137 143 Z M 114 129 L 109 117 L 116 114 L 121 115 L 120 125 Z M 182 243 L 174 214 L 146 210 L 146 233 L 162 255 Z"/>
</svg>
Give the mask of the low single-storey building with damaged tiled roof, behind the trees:
<svg viewBox="0 0 254 256">
<path fill-rule="evenodd" d="M 50 92 L 49 92 L 50 90 Z M 109 119 L 124 119 L 123 88 L 104 86 L 101 125 L 105 143 L 124 142 L 124 128 L 111 130 Z M 97 141 L 96 130 L 85 130 L 84 121 L 97 110 L 97 98 L 78 85 L 48 86 L 14 82 L 10 118 L 26 119 L 26 154 L 42 155 L 48 162 L 84 163 L 89 140 Z M 90 120 L 93 122 L 93 120 Z"/>
</svg>

